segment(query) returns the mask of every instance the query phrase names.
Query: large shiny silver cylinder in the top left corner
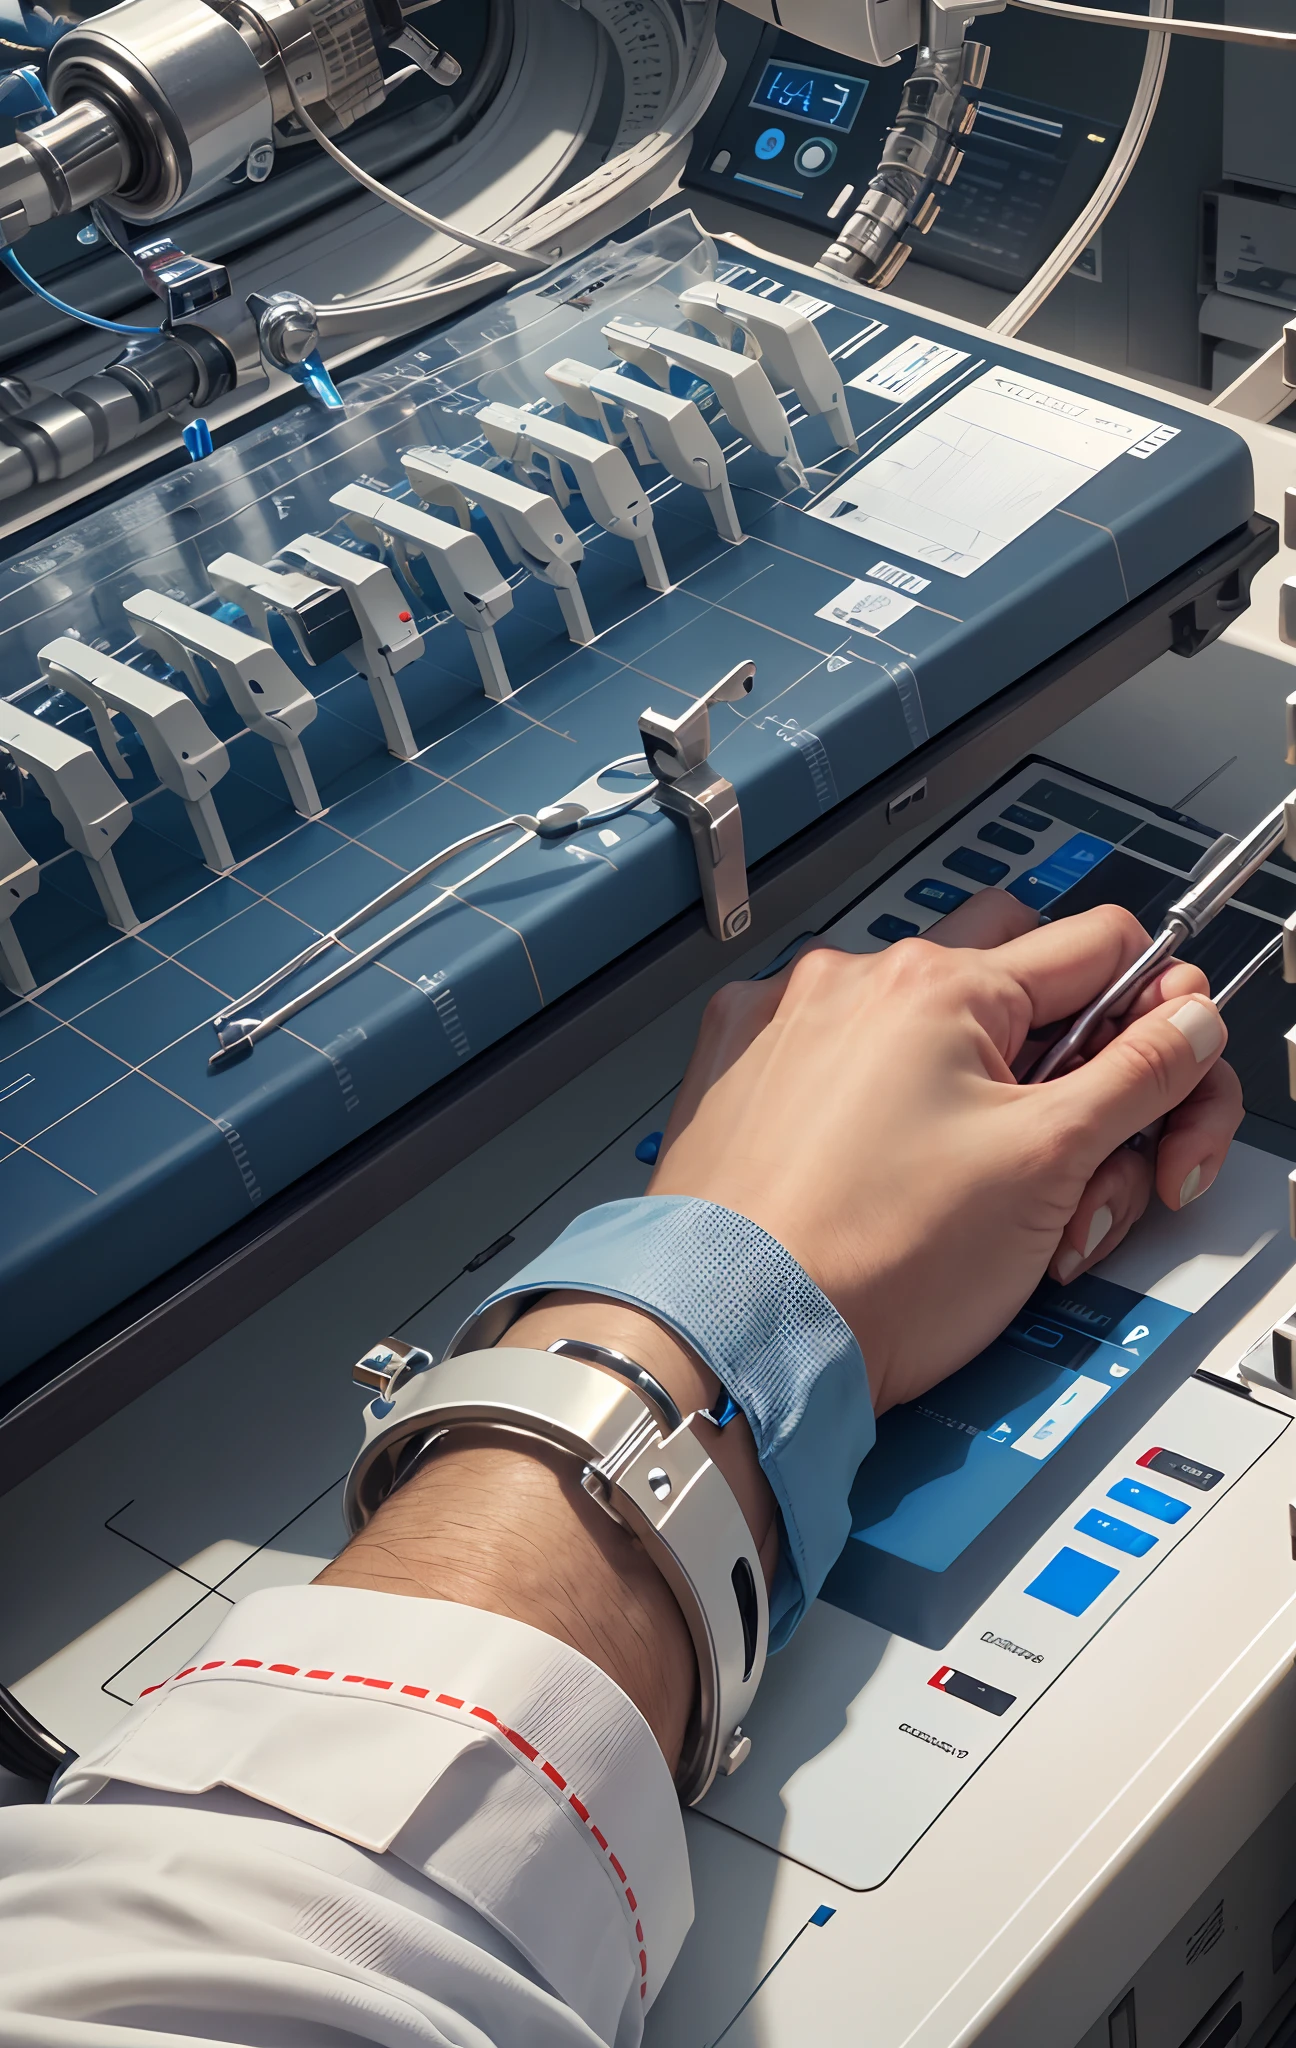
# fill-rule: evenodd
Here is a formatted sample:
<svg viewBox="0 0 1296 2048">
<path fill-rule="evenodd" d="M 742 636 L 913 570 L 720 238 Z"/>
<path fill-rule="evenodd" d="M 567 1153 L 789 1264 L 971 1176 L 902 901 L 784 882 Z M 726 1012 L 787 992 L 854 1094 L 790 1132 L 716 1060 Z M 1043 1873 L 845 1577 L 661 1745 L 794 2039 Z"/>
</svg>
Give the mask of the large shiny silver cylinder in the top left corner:
<svg viewBox="0 0 1296 2048">
<path fill-rule="evenodd" d="M 131 221 L 207 199 L 272 127 L 254 53 L 203 0 L 123 0 L 80 23 L 49 55 L 47 90 L 59 113 L 90 100 L 113 117 L 131 156 L 113 205 Z"/>
</svg>

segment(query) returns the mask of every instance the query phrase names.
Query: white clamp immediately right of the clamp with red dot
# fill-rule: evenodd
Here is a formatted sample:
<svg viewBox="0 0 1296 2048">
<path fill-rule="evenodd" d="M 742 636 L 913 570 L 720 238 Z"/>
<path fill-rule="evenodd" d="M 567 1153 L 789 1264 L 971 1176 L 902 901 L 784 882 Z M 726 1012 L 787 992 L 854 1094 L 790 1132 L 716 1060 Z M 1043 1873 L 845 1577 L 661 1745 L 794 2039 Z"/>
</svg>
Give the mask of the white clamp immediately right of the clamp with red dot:
<svg viewBox="0 0 1296 2048">
<path fill-rule="evenodd" d="M 358 541 L 389 549 L 397 573 L 412 592 L 420 590 L 412 557 L 426 561 L 455 618 L 467 629 L 481 688 L 493 702 L 512 696 L 495 627 L 512 612 L 514 594 L 481 535 L 465 532 L 463 526 L 424 512 L 407 498 L 387 498 L 366 483 L 346 483 L 334 492 L 330 504 L 346 514 L 346 524 Z"/>
</svg>

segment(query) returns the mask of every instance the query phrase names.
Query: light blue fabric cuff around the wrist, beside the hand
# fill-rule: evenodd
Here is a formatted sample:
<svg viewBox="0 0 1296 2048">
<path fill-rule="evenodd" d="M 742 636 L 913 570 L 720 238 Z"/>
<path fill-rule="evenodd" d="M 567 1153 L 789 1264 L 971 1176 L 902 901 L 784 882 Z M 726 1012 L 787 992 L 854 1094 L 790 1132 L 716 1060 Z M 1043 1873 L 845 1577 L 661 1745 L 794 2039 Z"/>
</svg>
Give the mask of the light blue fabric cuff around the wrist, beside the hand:
<svg viewBox="0 0 1296 2048">
<path fill-rule="evenodd" d="M 782 1511 L 770 1649 L 782 1649 L 846 1538 L 872 1450 L 860 1346 L 807 1272 L 758 1223 L 692 1196 L 645 1194 L 577 1217 L 463 1325 L 450 1354 L 495 1343 L 541 1294 L 645 1309 L 702 1358 L 751 1423 Z"/>
</svg>

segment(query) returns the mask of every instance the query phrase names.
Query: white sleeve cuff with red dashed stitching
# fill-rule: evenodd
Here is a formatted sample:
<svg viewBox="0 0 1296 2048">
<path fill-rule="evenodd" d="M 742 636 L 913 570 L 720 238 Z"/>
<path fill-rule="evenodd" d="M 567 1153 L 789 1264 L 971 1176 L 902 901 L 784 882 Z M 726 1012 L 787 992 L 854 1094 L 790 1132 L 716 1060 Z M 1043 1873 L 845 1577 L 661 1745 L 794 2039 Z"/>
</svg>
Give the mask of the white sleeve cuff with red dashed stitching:
<svg viewBox="0 0 1296 2048">
<path fill-rule="evenodd" d="M 477 1608 L 252 1593 L 53 1800 L 109 1780 L 229 1786 L 399 1858 L 483 1913 L 608 2042 L 692 1921 L 680 1802 L 639 1710 L 565 1642 Z"/>
</svg>

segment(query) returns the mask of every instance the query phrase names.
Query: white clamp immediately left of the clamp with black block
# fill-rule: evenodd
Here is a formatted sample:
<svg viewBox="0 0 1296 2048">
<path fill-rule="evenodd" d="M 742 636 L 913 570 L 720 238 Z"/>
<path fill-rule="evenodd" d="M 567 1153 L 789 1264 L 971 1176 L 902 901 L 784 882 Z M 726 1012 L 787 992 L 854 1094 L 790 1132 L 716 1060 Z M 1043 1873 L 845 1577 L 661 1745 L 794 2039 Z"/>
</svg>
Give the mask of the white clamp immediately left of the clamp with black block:
<svg viewBox="0 0 1296 2048">
<path fill-rule="evenodd" d="M 313 723 L 319 707 L 297 682 L 285 657 L 268 641 L 240 633 L 237 627 L 211 618 L 192 604 L 164 598 L 160 590 L 135 592 L 123 610 L 141 647 L 152 647 L 170 668 L 188 676 L 203 705 L 209 692 L 199 655 L 211 664 L 248 731 L 274 748 L 293 809 L 301 817 L 319 817 L 319 791 L 297 737 Z"/>
</svg>

